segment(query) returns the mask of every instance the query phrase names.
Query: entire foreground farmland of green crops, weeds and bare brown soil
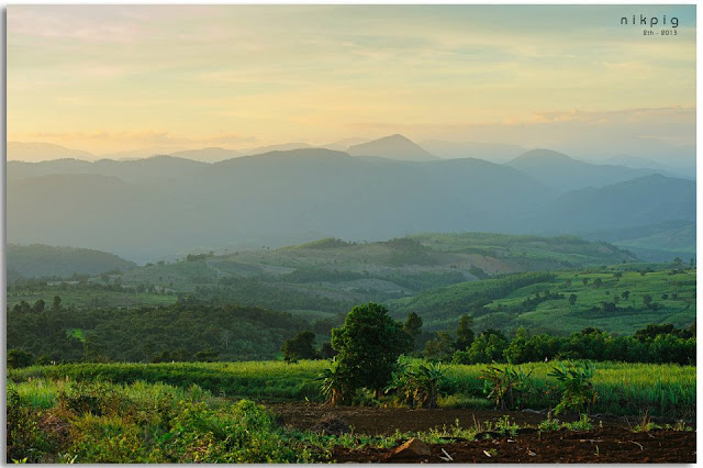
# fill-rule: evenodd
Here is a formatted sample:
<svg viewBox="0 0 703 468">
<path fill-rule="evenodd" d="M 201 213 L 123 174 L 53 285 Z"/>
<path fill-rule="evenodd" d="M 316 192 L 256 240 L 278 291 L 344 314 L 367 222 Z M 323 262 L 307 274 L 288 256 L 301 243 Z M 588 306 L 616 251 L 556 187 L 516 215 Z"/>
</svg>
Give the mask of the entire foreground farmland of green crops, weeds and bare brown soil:
<svg viewBox="0 0 703 468">
<path fill-rule="evenodd" d="M 556 401 L 547 393 L 555 383 L 547 374 L 559 363 L 522 366 L 532 372 L 528 387 L 535 390 L 525 402 L 528 411 L 492 409 L 479 379 L 484 366 L 447 366 L 435 410 L 399 406 L 390 398 L 373 402 L 369 395 L 350 406 L 323 404 L 316 377 L 326 365 L 11 370 L 9 459 L 442 463 L 448 454 L 457 463 L 695 460 L 694 367 L 599 363 L 591 415 L 549 420 Z M 411 438 L 428 452 L 394 453 Z"/>
</svg>

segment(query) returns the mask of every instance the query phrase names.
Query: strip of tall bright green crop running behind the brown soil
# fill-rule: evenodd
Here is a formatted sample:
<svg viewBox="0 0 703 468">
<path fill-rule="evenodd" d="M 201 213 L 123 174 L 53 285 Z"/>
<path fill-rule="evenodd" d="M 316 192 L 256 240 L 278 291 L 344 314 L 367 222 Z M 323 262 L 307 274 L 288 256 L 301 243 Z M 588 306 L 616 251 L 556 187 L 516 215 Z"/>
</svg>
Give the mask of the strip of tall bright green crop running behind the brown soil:
<svg viewBox="0 0 703 468">
<path fill-rule="evenodd" d="M 556 380 L 547 374 L 559 363 L 526 364 L 529 375 L 526 405 L 556 405 Z M 197 385 L 214 395 L 261 401 L 322 401 L 317 375 L 326 361 L 180 363 L 180 364 L 75 364 L 34 366 L 9 372 L 10 387 L 30 394 L 43 380 L 138 381 L 168 383 L 181 389 Z M 447 381 L 440 403 L 446 406 L 486 408 L 486 366 L 446 366 Z M 695 367 L 677 365 L 598 363 L 593 383 L 598 391 L 595 412 L 649 414 L 691 419 L 695 414 Z M 38 380 L 37 380 L 38 379 Z M 46 397 L 49 398 L 49 397 Z"/>
</svg>

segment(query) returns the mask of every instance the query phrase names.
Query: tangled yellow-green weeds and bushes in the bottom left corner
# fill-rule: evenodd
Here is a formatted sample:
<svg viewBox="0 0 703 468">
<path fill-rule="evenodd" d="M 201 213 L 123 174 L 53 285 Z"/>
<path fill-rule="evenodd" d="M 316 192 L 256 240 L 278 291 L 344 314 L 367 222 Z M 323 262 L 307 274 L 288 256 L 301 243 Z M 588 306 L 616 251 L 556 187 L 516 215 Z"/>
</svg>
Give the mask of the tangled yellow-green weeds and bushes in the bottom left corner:
<svg viewBox="0 0 703 468">
<path fill-rule="evenodd" d="M 46 382 L 55 403 L 9 392 L 9 459 L 32 463 L 312 463 L 325 459 L 248 400 L 154 385 Z M 29 416 L 29 417 L 27 417 Z"/>
</svg>

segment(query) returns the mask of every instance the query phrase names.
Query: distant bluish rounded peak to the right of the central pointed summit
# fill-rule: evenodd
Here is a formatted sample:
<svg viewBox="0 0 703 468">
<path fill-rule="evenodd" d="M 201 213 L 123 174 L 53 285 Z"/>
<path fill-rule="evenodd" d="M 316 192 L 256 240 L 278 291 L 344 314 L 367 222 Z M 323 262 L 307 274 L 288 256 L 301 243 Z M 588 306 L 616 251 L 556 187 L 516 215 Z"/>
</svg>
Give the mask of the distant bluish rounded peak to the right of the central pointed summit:
<svg viewBox="0 0 703 468">
<path fill-rule="evenodd" d="M 602 187 L 658 172 L 656 169 L 584 163 L 550 149 L 529 151 L 506 165 L 560 192 Z"/>
</svg>

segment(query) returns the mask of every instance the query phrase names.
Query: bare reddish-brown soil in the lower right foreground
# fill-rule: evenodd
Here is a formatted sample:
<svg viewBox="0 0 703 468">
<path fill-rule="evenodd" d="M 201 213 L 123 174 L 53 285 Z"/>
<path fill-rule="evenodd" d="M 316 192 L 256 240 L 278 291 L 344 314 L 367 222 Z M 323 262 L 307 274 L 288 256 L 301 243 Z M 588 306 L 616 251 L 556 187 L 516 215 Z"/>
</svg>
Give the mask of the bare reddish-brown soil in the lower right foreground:
<svg viewBox="0 0 703 468">
<path fill-rule="evenodd" d="M 521 426 L 537 425 L 546 414 L 533 412 L 498 412 L 484 410 L 410 410 L 386 408 L 348 408 L 305 404 L 269 404 L 281 423 L 311 430 L 320 421 L 334 416 L 352 426 L 353 433 L 391 435 L 401 432 L 428 431 L 443 425 L 449 427 L 459 420 L 462 427 L 496 421 L 504 414 Z M 561 417 L 573 421 L 574 417 Z M 516 436 L 478 441 L 457 441 L 433 445 L 431 455 L 392 455 L 393 449 L 336 447 L 336 463 L 695 463 L 695 432 L 655 430 L 635 433 L 636 417 L 595 417 L 596 428 L 585 432 L 558 431 L 539 433 L 520 430 Z M 444 449 L 444 452 L 443 452 Z M 450 459 L 449 459 L 450 458 Z"/>
</svg>

